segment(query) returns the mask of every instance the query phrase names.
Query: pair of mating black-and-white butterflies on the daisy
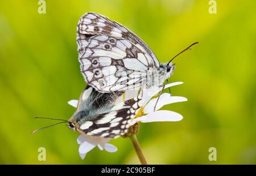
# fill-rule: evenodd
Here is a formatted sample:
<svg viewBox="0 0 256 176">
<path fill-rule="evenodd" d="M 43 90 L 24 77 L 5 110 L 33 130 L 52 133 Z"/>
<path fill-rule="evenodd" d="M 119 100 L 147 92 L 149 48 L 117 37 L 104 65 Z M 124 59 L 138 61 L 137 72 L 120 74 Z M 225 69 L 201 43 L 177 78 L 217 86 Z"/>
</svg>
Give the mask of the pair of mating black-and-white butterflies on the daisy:
<svg viewBox="0 0 256 176">
<path fill-rule="evenodd" d="M 81 72 L 88 86 L 72 118 L 60 123 L 68 123 L 69 128 L 81 134 L 104 138 L 125 135 L 141 108 L 141 96 L 118 102 L 123 93 L 164 88 L 164 81 L 174 71 L 172 59 L 192 46 L 170 62 L 159 64 L 151 49 L 133 32 L 93 12 L 83 15 L 77 25 L 77 45 Z"/>
</svg>

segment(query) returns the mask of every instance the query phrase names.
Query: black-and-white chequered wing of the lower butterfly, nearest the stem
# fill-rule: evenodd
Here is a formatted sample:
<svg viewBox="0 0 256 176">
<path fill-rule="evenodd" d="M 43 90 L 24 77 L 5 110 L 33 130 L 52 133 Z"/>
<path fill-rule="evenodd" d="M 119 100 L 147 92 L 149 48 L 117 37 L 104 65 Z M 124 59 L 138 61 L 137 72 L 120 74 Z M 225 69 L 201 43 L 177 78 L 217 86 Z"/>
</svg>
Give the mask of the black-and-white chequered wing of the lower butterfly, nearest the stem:
<svg viewBox="0 0 256 176">
<path fill-rule="evenodd" d="M 108 113 L 98 114 L 80 124 L 79 131 L 86 135 L 117 138 L 125 135 L 130 122 L 141 108 L 141 96 L 116 104 Z"/>
</svg>

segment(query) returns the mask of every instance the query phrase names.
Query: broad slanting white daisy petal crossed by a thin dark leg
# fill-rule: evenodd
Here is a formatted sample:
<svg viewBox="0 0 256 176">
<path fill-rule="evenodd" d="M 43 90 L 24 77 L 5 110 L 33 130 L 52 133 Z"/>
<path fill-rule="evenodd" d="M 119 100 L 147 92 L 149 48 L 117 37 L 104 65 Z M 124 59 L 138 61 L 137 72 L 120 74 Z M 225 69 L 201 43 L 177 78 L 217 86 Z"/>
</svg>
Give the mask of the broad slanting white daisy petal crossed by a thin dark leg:
<svg viewBox="0 0 256 176">
<path fill-rule="evenodd" d="M 162 108 L 164 105 L 167 105 L 168 101 L 171 99 L 171 95 L 170 93 L 163 93 L 162 95 L 160 95 L 159 100 L 158 97 L 154 98 L 152 100 L 150 100 L 150 102 L 148 102 L 148 104 L 144 107 L 143 112 L 145 114 L 151 113 L 152 111 L 154 111 L 155 105 L 155 111 Z M 156 101 L 158 100 L 158 103 L 156 104 Z"/>
</svg>

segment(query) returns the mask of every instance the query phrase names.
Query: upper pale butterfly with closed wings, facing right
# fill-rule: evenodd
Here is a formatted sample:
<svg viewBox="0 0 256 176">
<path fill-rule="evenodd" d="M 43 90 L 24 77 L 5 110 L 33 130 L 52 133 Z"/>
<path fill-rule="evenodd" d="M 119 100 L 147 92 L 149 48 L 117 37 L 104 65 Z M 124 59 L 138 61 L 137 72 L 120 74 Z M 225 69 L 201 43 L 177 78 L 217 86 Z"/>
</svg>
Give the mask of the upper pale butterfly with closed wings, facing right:
<svg viewBox="0 0 256 176">
<path fill-rule="evenodd" d="M 174 71 L 129 29 L 94 12 L 80 18 L 77 45 L 82 75 L 98 92 L 158 88 Z"/>
</svg>

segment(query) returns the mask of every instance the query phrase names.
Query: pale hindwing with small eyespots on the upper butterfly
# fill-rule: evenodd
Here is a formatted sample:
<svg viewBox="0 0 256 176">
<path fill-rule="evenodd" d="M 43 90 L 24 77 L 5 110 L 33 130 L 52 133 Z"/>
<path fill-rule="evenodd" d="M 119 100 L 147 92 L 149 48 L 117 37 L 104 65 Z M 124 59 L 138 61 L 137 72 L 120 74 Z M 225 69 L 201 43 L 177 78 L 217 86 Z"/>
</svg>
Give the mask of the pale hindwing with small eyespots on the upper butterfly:
<svg viewBox="0 0 256 176">
<path fill-rule="evenodd" d="M 98 92 L 139 89 L 154 70 L 150 56 L 130 41 L 92 36 L 80 55 L 81 72 Z"/>
</svg>

